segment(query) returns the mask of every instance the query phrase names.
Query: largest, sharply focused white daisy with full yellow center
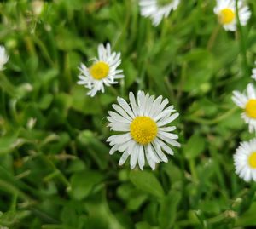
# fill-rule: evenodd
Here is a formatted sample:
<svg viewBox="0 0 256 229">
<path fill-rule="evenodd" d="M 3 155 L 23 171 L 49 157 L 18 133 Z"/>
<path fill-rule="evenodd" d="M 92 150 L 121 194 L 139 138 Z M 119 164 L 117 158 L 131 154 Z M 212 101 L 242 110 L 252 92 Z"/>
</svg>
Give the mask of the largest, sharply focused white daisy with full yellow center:
<svg viewBox="0 0 256 229">
<path fill-rule="evenodd" d="M 142 170 L 146 156 L 149 166 L 155 169 L 155 163 L 168 161 L 163 151 L 173 155 L 169 145 L 180 146 L 178 136 L 170 133 L 176 127 L 166 126 L 178 117 L 178 113 L 173 106 L 166 107 L 169 101 L 163 100 L 162 96 L 155 99 L 154 95 L 138 91 L 137 101 L 131 92 L 129 99 L 130 105 L 118 97 L 119 105 L 113 104 L 115 112 L 108 112 L 110 129 L 124 132 L 108 138 L 109 145 L 113 146 L 109 153 L 123 152 L 119 165 L 131 156 L 131 169 L 138 163 Z"/>
</svg>

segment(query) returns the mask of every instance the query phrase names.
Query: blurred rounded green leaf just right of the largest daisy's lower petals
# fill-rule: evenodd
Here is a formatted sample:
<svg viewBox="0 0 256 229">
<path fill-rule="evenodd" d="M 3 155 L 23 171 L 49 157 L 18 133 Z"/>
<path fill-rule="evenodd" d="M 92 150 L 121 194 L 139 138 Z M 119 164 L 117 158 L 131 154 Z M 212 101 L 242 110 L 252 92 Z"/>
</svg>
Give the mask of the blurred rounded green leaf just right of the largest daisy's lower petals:
<svg viewBox="0 0 256 229">
<path fill-rule="evenodd" d="M 188 160 L 193 159 L 204 151 L 205 145 L 205 139 L 198 134 L 194 134 L 183 147 L 183 153 Z"/>
</svg>

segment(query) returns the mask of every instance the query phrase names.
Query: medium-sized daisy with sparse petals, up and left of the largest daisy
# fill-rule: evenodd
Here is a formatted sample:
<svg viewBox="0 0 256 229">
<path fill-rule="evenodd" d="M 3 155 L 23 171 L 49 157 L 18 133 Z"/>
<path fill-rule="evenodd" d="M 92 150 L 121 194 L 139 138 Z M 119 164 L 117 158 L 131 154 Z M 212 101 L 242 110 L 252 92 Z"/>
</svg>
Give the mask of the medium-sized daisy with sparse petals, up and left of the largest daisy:
<svg viewBox="0 0 256 229">
<path fill-rule="evenodd" d="M 116 79 L 124 77 L 123 70 L 117 69 L 121 64 L 120 57 L 120 53 L 111 53 L 109 43 L 107 43 L 106 48 L 100 44 L 98 46 L 98 58 L 94 58 L 93 65 L 88 68 L 81 63 L 78 84 L 90 89 L 87 94 L 91 97 L 95 96 L 98 91 L 104 93 L 104 86 L 118 83 Z"/>
</svg>

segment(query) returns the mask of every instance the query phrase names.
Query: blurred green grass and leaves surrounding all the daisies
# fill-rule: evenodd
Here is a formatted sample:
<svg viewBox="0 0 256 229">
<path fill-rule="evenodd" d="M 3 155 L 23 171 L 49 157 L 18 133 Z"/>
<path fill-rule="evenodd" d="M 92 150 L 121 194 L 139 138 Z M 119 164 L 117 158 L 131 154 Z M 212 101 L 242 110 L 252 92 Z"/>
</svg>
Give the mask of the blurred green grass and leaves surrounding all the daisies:
<svg viewBox="0 0 256 229">
<path fill-rule="evenodd" d="M 230 99 L 253 81 L 256 2 L 247 3 L 248 25 L 228 32 L 215 1 L 182 0 L 158 27 L 136 0 L 2 1 L 0 227 L 255 228 L 256 186 L 233 165 L 254 135 Z M 78 66 L 107 42 L 125 79 L 90 98 Z M 105 142 L 111 104 L 137 89 L 180 112 L 182 147 L 154 171 L 120 168 Z"/>
</svg>

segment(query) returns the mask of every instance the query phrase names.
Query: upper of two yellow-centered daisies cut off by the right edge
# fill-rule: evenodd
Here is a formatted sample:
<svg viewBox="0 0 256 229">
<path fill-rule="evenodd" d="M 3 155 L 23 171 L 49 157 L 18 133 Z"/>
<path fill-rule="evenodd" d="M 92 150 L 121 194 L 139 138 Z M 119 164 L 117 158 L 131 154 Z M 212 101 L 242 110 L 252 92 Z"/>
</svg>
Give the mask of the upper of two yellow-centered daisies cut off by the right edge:
<svg viewBox="0 0 256 229">
<path fill-rule="evenodd" d="M 240 93 L 239 91 L 234 91 L 232 100 L 237 106 L 241 107 L 244 112 L 241 117 L 249 125 L 249 131 L 253 132 L 256 130 L 256 90 L 253 87 L 253 83 L 247 85 L 247 92 Z"/>
</svg>

